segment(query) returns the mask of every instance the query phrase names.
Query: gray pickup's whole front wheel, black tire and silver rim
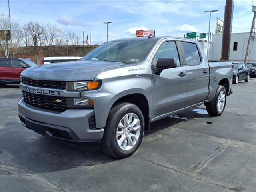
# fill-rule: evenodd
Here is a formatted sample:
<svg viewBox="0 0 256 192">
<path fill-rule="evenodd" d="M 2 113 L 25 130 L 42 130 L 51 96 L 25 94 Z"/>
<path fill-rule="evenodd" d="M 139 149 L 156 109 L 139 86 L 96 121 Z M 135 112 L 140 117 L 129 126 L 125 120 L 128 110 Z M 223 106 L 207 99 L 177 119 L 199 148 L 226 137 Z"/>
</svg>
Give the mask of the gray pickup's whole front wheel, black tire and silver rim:
<svg viewBox="0 0 256 192">
<path fill-rule="evenodd" d="M 140 146 L 144 128 L 144 117 L 138 106 L 126 102 L 117 103 L 108 114 L 100 148 L 114 158 L 131 156 Z"/>
</svg>

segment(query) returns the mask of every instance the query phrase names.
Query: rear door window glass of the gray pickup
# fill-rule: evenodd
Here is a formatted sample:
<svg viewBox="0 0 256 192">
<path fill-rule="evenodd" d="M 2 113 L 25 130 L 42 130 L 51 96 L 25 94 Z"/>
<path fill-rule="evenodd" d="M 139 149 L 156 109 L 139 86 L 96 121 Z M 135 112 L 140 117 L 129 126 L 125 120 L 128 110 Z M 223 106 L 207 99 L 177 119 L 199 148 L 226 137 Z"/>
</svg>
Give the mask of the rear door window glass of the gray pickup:
<svg viewBox="0 0 256 192">
<path fill-rule="evenodd" d="M 183 50 L 185 52 L 187 65 L 197 65 L 201 62 L 196 44 L 181 42 Z"/>
</svg>

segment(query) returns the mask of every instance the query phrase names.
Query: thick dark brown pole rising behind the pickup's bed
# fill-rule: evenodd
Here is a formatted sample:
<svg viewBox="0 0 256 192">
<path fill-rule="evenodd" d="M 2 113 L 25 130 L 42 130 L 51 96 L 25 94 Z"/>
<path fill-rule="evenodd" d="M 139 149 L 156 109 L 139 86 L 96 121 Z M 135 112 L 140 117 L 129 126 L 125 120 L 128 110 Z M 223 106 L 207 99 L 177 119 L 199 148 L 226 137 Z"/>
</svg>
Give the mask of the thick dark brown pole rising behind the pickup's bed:
<svg viewBox="0 0 256 192">
<path fill-rule="evenodd" d="M 233 20 L 234 0 L 226 0 L 225 13 L 224 13 L 224 26 L 222 34 L 222 49 L 221 49 L 221 61 L 229 60 L 231 30 Z"/>
</svg>

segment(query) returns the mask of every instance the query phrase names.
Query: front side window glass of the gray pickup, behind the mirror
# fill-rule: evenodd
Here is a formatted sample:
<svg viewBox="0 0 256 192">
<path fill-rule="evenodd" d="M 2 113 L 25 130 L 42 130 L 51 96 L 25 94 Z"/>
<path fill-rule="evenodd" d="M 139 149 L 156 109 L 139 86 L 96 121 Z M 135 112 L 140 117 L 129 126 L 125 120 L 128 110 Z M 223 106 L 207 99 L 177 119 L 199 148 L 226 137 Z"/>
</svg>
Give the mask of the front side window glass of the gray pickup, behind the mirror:
<svg viewBox="0 0 256 192">
<path fill-rule="evenodd" d="M 160 45 L 153 59 L 153 66 L 156 66 L 156 62 L 159 58 L 175 58 L 177 66 L 180 65 L 179 54 L 174 41 L 167 41 Z"/>
</svg>

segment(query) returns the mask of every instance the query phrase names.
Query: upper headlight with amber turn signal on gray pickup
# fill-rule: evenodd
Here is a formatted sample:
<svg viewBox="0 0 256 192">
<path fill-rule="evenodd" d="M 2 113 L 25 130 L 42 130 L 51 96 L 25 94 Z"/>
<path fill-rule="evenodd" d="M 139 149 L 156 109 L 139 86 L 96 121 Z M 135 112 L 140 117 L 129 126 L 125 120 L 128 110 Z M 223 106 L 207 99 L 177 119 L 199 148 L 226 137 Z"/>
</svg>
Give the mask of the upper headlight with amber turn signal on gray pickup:
<svg viewBox="0 0 256 192">
<path fill-rule="evenodd" d="M 68 91 L 87 91 L 100 88 L 100 81 L 74 81 L 67 82 Z"/>
</svg>

